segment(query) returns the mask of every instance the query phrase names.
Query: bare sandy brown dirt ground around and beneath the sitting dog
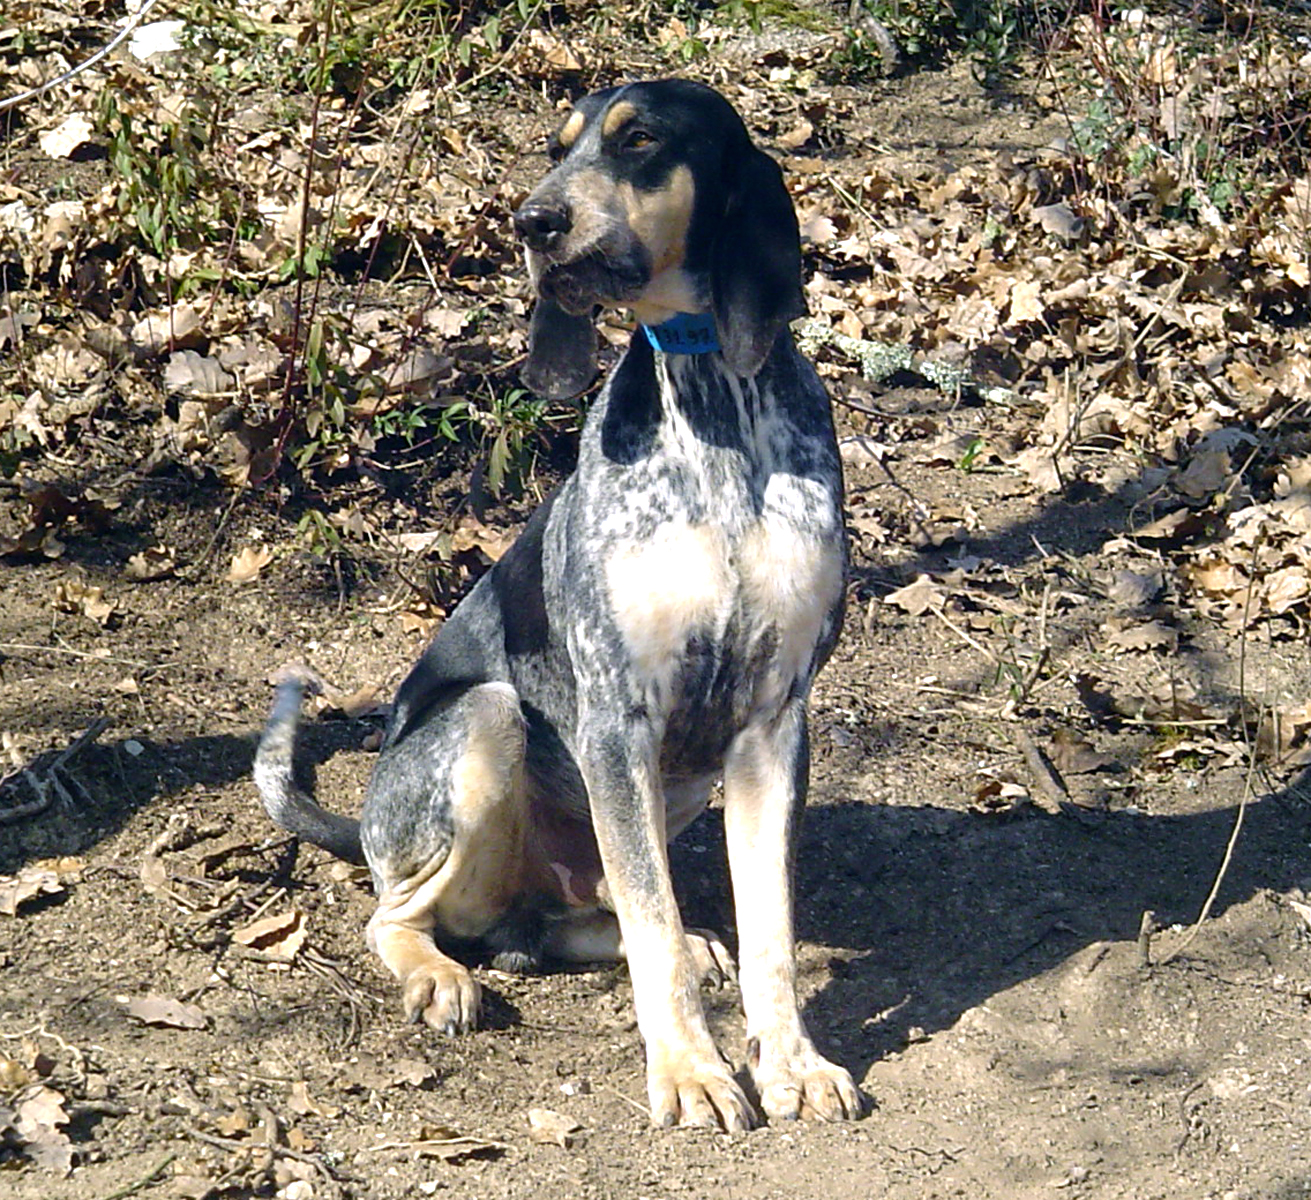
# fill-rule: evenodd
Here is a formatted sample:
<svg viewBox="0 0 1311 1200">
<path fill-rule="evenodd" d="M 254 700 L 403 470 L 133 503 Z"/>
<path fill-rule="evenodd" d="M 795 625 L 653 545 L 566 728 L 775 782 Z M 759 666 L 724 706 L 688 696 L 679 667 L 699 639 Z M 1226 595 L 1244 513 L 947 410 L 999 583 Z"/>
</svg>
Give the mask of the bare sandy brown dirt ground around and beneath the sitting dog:
<svg viewBox="0 0 1311 1200">
<path fill-rule="evenodd" d="M 964 71 L 871 96 L 848 122 L 852 153 L 874 123 L 893 153 L 961 161 L 1051 134 L 1023 106 L 986 104 Z M 273 489 L 228 511 L 212 480 L 164 473 L 134 479 L 114 527 L 68 534 L 62 559 L 0 565 L 0 729 L 38 780 L 63 780 L 26 816 L 35 793 L 14 780 L 0 813 L 0 872 L 39 862 L 54 875 L 49 893 L 0 915 L 0 1108 L 38 1085 L 56 1091 L 69 1140 L 35 1163 L 16 1153 L 14 1129 L 37 1129 L 39 1115 L 13 1117 L 0 1190 L 1311 1196 L 1311 810 L 1299 780 L 1255 776 L 1210 919 L 1185 943 L 1244 796 L 1243 757 L 1179 750 L 1159 725 L 1089 707 L 1089 681 L 1186 687 L 1197 711 L 1240 687 L 1303 696 L 1304 639 L 1253 640 L 1240 668 L 1232 637 L 1180 609 L 1169 648 L 1109 647 L 1120 602 L 1092 581 L 1106 544 L 1141 523 L 1131 481 L 1036 494 L 1004 471 L 916 462 L 944 437 L 1004 439 L 1024 417 L 910 388 L 878 407 L 873 422 L 839 416 L 847 434 L 899 430 L 897 485 L 853 463 L 848 490 L 853 519 L 897 536 L 857 540 L 846 633 L 814 696 L 798 852 L 806 1018 L 869 1096 L 863 1120 L 650 1129 L 621 968 L 515 978 L 484 967 L 485 1028 L 447 1041 L 402 1024 L 362 942 L 367 883 L 273 830 L 249 778 L 273 668 L 307 656 L 346 691 L 385 694 L 418 652 L 387 609 L 387 555 L 334 569 L 295 548 L 296 514 Z M 410 500 L 423 515 L 442 494 Z M 958 538 L 899 536 L 948 509 L 971 514 Z M 278 552 L 236 586 L 223 567 L 252 531 Z M 202 563 L 212 547 L 210 565 L 189 581 L 122 582 L 123 561 L 156 542 Z M 987 611 L 1012 606 L 1016 640 L 1045 645 L 1041 686 L 1007 712 L 969 611 L 944 620 L 882 602 L 922 573 L 966 569 L 962 556 L 991 564 Z M 115 619 L 52 607 L 69 574 L 102 584 Z M 376 728 L 308 728 L 333 807 L 358 804 Z M 1016 728 L 1078 751 L 1061 759 L 1068 800 L 1044 791 Z M 688 922 L 732 942 L 720 813 L 673 856 Z M 1142 944 L 1146 911 L 1160 932 Z M 233 939 L 279 915 L 262 943 Z M 131 1002 L 151 995 L 186 1007 L 134 1019 Z M 728 988 L 707 1003 L 741 1062 L 738 997 Z M 532 1108 L 577 1123 L 566 1145 L 530 1136 Z"/>
</svg>

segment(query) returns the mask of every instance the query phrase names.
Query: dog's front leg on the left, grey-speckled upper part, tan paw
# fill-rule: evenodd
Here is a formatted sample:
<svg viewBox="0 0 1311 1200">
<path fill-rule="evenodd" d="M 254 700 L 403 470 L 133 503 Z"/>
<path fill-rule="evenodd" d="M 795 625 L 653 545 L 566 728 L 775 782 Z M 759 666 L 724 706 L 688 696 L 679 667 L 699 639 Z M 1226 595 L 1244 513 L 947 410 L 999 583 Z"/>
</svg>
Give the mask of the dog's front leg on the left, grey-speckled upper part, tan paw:
<svg viewBox="0 0 1311 1200">
<path fill-rule="evenodd" d="M 674 900 L 654 737 L 629 725 L 585 736 L 579 750 L 646 1044 L 652 1120 L 750 1129 L 755 1112 L 711 1039 Z"/>
</svg>

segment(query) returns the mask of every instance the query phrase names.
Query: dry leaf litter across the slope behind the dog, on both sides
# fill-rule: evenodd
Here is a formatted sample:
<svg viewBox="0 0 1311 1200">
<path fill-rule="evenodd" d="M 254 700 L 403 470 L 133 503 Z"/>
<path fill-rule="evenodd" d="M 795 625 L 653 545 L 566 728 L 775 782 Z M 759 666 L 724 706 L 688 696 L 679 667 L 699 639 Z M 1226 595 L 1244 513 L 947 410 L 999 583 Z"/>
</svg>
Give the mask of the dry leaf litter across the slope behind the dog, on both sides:
<svg viewBox="0 0 1311 1200">
<path fill-rule="evenodd" d="M 503 454 L 514 421 L 540 418 L 507 416 L 527 310 L 507 215 L 540 169 L 524 147 L 555 111 L 520 88 L 493 113 L 479 84 L 530 76 L 562 100 L 607 73 L 682 64 L 783 152 L 815 316 L 1011 391 L 1015 435 L 966 438 L 970 463 L 1040 492 L 1133 496 L 1133 544 L 1228 628 L 1294 632 L 1311 611 L 1311 174 L 1290 150 L 1276 176 L 1232 132 L 1274 129 L 1289 97 L 1311 94 L 1294 38 L 1201 45 L 1142 12 L 1072 17 L 1033 89 L 1036 111 L 1071 113 L 1067 136 L 944 165 L 842 153 L 869 97 L 825 73 L 832 30 L 666 24 L 637 50 L 629 30 L 620 63 L 602 24 L 502 29 L 477 10 L 468 49 L 404 87 L 379 66 L 399 37 L 388 26 L 371 59 L 382 73 L 350 93 L 287 75 L 312 13 L 288 0 L 269 25 L 270 12 L 206 30 L 210 59 L 197 30 L 143 26 L 126 58 L 21 110 L 18 168 L 0 184 L 0 269 L 18 281 L 0 319 L 10 462 L 39 462 L 115 408 L 153 414 L 144 470 L 232 485 L 292 451 L 305 471 L 374 470 L 397 437 L 425 458 L 461 437 L 499 438 Z M 60 62 L 20 62 L 0 41 L 10 88 Z M 350 75 L 338 66 L 334 81 Z M 248 90 L 232 87 L 237 67 Z M 425 282 L 384 291 L 383 278 Z M 539 445 L 517 435 L 526 454 Z M 899 435 L 884 438 L 893 456 Z M 7 556 L 58 553 L 62 530 L 113 501 L 38 487 L 26 502 Z M 321 535 L 370 523 L 343 514 Z M 174 565 L 160 547 L 136 569 Z"/>
</svg>

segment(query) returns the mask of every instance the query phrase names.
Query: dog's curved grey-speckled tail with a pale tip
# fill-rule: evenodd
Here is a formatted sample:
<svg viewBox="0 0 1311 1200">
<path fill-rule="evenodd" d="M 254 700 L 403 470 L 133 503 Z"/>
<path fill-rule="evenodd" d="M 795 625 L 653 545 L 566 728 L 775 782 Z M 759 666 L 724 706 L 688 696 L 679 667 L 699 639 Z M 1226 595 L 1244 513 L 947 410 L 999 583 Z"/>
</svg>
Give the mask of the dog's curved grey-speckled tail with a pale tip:
<svg viewBox="0 0 1311 1200">
<path fill-rule="evenodd" d="M 300 725 L 300 702 L 308 689 L 317 690 L 309 671 L 287 669 L 282 673 L 273 712 L 254 754 L 254 783 L 265 812 L 283 829 L 349 863 L 363 863 L 359 821 L 328 812 L 296 783 L 291 758 Z"/>
</svg>

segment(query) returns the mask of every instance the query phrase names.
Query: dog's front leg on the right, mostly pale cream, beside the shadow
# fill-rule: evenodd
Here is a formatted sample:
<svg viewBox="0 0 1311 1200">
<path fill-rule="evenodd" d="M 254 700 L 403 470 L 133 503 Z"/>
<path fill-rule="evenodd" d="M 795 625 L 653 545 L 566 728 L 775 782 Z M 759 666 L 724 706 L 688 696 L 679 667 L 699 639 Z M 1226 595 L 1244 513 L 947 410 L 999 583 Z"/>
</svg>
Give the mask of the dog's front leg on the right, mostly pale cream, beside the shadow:
<svg viewBox="0 0 1311 1200">
<path fill-rule="evenodd" d="M 792 930 L 792 826 L 810 769 L 804 700 L 738 734 L 724 769 L 738 980 L 746 1010 L 747 1060 L 772 1120 L 860 1115 L 851 1075 L 823 1058 L 797 1007 Z"/>
</svg>

